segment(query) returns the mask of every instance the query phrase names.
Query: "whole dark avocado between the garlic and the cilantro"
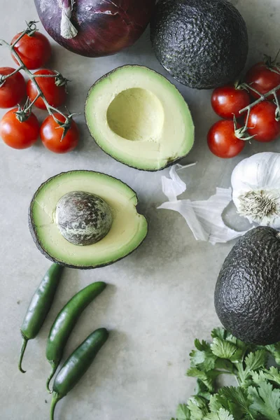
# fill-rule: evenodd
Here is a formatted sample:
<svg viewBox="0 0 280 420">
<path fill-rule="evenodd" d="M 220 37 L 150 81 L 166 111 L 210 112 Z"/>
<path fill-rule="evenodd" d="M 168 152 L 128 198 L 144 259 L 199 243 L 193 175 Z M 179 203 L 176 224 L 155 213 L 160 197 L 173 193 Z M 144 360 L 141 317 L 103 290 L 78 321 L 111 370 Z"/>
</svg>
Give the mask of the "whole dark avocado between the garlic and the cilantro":
<svg viewBox="0 0 280 420">
<path fill-rule="evenodd" d="M 280 233 L 259 227 L 241 237 L 218 276 L 215 307 L 223 326 L 244 342 L 280 341 Z"/>
</svg>

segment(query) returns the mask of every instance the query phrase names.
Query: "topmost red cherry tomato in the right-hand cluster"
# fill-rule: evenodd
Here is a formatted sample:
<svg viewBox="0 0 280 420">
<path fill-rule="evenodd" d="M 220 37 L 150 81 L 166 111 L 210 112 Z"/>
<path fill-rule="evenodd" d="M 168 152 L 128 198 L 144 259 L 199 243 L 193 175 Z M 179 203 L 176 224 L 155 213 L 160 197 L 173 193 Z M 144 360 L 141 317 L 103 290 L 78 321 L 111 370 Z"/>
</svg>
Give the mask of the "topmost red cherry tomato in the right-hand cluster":
<svg viewBox="0 0 280 420">
<path fill-rule="evenodd" d="M 255 90 L 258 90 L 261 94 L 269 92 L 274 87 L 280 85 L 280 74 L 275 73 L 278 71 L 276 67 L 269 68 L 265 62 L 255 64 L 246 74 L 246 83 L 251 85 Z M 252 97 L 258 99 L 259 94 L 250 90 Z M 280 90 L 279 90 L 280 94 Z M 273 99 L 273 95 L 270 95 L 268 99 Z"/>
</svg>

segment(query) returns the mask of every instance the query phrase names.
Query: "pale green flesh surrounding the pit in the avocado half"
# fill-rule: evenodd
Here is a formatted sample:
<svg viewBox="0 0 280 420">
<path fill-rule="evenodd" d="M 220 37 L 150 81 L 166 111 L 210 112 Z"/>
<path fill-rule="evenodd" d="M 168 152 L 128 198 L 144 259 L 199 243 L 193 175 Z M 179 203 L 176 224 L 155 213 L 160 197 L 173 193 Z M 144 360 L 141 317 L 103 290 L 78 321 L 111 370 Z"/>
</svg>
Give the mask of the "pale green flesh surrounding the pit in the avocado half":
<svg viewBox="0 0 280 420">
<path fill-rule="evenodd" d="M 101 197 L 113 214 L 109 233 L 95 244 L 71 244 L 55 222 L 57 202 L 72 191 Z M 34 241 L 52 261 L 74 268 L 94 268 L 120 260 L 145 239 L 146 218 L 137 213 L 137 195 L 122 181 L 91 171 L 64 172 L 50 178 L 36 191 L 29 209 L 29 227 Z"/>
</svg>

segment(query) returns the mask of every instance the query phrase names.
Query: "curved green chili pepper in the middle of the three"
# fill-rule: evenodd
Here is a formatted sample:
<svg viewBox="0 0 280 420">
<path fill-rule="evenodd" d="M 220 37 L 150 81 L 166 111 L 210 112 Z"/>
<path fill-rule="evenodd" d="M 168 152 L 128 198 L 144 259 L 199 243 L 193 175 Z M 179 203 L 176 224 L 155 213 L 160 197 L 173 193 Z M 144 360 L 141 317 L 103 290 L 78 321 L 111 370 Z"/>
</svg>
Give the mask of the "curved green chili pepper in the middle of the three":
<svg viewBox="0 0 280 420">
<path fill-rule="evenodd" d="M 71 331 L 78 321 L 78 317 L 82 314 L 87 305 L 94 300 L 94 297 L 97 297 L 102 293 L 104 288 L 106 288 L 106 283 L 97 281 L 90 284 L 90 286 L 83 288 L 83 290 L 80 290 L 80 292 L 74 295 L 71 300 L 66 303 L 64 308 L 62 308 L 57 315 L 55 322 L 52 324 L 45 351 L 45 355 L 52 367 L 50 376 L 47 379 L 47 389 L 49 392 L 50 380 L 62 360 L 64 347 L 69 339 Z"/>
</svg>

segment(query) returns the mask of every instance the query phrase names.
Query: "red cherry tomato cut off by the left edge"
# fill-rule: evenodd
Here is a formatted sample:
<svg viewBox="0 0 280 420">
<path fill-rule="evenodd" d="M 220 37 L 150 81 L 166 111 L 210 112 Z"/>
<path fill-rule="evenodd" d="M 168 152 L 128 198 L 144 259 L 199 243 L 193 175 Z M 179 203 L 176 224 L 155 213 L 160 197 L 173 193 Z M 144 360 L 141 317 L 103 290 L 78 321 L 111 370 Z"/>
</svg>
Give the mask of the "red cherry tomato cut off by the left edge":
<svg viewBox="0 0 280 420">
<path fill-rule="evenodd" d="M 1 76 L 8 76 L 15 69 L 12 67 L 0 67 L 0 84 Z M 26 85 L 25 79 L 20 72 L 13 74 L 4 80 L 0 87 L 0 108 L 12 108 L 20 103 L 25 97 Z"/>
</svg>

